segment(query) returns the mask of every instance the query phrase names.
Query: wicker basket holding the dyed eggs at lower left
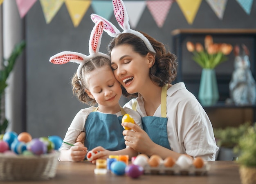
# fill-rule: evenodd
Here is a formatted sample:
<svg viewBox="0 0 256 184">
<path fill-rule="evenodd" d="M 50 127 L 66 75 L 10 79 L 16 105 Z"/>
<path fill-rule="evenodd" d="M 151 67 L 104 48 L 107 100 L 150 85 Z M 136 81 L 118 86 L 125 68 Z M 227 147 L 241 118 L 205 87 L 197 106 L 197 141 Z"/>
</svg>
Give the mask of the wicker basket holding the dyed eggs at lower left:
<svg viewBox="0 0 256 184">
<path fill-rule="evenodd" d="M 48 180 L 56 175 L 59 152 L 10 156 L 0 154 L 0 180 Z"/>
</svg>

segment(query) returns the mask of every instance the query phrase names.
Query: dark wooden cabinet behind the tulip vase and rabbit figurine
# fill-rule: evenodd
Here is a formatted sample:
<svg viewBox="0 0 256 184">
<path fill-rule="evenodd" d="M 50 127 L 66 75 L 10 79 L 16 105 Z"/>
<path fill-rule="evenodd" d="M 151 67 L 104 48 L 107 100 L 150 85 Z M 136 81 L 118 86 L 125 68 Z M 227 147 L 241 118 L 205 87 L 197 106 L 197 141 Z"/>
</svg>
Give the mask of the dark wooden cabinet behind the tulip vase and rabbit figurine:
<svg viewBox="0 0 256 184">
<path fill-rule="evenodd" d="M 204 44 L 204 37 L 211 35 L 214 43 L 245 44 L 249 49 L 251 71 L 256 79 L 256 29 L 175 29 L 171 32 L 173 50 L 179 62 L 176 82 L 184 82 L 186 88 L 198 98 L 201 70 L 193 60 L 192 53 L 187 51 L 186 42 Z M 213 127 L 238 126 L 245 121 L 256 121 L 256 106 L 227 105 L 229 98 L 229 82 L 234 71 L 234 54 L 229 60 L 216 67 L 216 78 L 220 93 L 219 102 L 211 107 L 204 107 Z M 239 117 L 238 117 L 239 116 Z"/>
</svg>

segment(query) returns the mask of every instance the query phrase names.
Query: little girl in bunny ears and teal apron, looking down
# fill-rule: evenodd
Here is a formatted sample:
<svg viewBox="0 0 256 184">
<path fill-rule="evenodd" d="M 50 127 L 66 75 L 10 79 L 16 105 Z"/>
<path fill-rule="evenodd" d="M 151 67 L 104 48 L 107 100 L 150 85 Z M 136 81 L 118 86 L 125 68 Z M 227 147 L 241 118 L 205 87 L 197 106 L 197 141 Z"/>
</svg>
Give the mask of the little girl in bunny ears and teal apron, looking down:
<svg viewBox="0 0 256 184">
<path fill-rule="evenodd" d="M 79 63 L 77 72 L 72 79 L 73 93 L 83 103 L 98 104 L 80 110 L 74 117 L 64 138 L 59 156 L 60 161 L 78 162 L 85 158 L 86 150 L 104 146 L 109 154 L 137 155 L 137 151 L 124 144 L 121 119 L 124 114 L 130 114 L 140 126 L 141 117 L 129 108 L 121 108 L 119 99 L 122 94 L 120 83 L 113 74 L 110 58 L 99 52 L 103 22 L 94 26 L 90 37 L 89 56 L 76 52 L 61 52 L 50 58 L 54 64 L 69 61 Z M 85 131 L 84 146 L 75 143 L 81 131 Z M 74 146 L 70 146 L 74 144 Z M 107 155 L 106 155 L 107 157 Z"/>
</svg>

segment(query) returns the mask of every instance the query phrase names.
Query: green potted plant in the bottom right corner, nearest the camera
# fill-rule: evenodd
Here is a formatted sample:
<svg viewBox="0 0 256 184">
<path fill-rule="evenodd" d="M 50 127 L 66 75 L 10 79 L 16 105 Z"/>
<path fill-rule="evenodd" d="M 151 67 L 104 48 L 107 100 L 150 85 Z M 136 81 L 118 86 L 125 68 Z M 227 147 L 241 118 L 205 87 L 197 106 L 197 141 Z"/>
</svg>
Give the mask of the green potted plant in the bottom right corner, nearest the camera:
<svg viewBox="0 0 256 184">
<path fill-rule="evenodd" d="M 256 184 L 256 124 L 250 126 L 246 134 L 239 138 L 234 148 L 239 153 L 237 162 L 242 184 Z"/>
</svg>

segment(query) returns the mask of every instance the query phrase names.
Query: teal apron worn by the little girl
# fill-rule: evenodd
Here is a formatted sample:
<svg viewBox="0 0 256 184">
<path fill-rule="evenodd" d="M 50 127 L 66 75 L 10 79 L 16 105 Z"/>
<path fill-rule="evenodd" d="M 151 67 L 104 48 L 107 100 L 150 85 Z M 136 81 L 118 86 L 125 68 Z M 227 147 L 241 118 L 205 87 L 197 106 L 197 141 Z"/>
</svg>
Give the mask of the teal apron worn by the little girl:
<svg viewBox="0 0 256 184">
<path fill-rule="evenodd" d="M 120 107 L 122 116 L 96 112 L 96 108 L 85 121 L 85 147 L 92 150 L 97 146 L 111 151 L 126 148 L 121 120 L 126 112 Z"/>
</svg>

